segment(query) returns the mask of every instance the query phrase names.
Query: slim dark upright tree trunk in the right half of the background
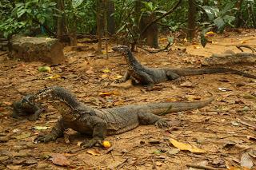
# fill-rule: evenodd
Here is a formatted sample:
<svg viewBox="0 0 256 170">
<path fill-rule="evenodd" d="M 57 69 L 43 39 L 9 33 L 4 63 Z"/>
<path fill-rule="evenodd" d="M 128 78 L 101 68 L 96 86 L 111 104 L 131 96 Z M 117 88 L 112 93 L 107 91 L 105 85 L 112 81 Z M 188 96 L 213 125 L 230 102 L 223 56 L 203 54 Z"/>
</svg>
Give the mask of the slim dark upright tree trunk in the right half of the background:
<svg viewBox="0 0 256 170">
<path fill-rule="evenodd" d="M 186 38 L 192 40 L 194 38 L 194 29 L 195 29 L 195 15 L 196 15 L 196 6 L 194 5 L 194 0 L 189 0 L 189 11 L 188 11 L 188 31 Z"/>
</svg>

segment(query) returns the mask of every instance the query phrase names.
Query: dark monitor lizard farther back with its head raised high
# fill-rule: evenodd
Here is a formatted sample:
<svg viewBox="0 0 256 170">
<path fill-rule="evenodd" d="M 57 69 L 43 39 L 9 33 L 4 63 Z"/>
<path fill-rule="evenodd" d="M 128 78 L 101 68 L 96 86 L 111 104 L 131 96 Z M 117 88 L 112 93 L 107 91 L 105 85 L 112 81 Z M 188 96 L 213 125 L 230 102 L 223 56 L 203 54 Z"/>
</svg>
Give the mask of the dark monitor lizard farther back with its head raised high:
<svg viewBox="0 0 256 170">
<path fill-rule="evenodd" d="M 148 89 L 152 89 L 154 84 L 162 81 L 175 80 L 183 76 L 202 75 L 206 73 L 234 73 L 243 77 L 256 79 L 256 76 L 244 73 L 235 69 L 227 68 L 149 68 L 139 63 L 139 61 L 131 53 L 130 49 L 125 45 L 119 45 L 112 48 L 114 51 L 123 53 L 127 62 L 127 71 L 119 82 L 127 81 L 130 77 L 136 81 L 146 85 Z"/>
</svg>

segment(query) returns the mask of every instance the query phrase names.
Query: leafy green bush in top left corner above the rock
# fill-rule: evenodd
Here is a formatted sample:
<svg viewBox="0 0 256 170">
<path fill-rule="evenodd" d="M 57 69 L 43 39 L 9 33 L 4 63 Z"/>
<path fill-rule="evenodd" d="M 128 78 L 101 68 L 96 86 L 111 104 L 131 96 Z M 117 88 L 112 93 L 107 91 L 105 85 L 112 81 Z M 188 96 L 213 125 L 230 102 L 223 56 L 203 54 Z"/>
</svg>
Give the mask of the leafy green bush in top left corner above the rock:
<svg viewBox="0 0 256 170">
<path fill-rule="evenodd" d="M 38 24 L 44 24 L 46 20 L 51 19 L 55 10 L 55 2 L 50 0 L 28 0 L 26 2 L 4 0 L 0 4 L 0 32 L 5 38 L 10 38 L 12 34 L 26 32 L 31 27 L 39 27 Z M 36 23 L 36 24 L 35 24 Z"/>
</svg>

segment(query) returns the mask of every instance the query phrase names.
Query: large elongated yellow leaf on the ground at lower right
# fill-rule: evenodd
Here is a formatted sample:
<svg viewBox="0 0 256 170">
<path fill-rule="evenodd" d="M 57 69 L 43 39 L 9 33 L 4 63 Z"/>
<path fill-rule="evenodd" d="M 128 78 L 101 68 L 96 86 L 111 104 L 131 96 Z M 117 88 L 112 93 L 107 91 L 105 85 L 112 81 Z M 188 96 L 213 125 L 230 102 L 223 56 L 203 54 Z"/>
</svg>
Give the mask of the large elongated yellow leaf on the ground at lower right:
<svg viewBox="0 0 256 170">
<path fill-rule="evenodd" d="M 174 147 L 179 148 L 180 150 L 186 150 L 186 151 L 190 151 L 190 152 L 194 152 L 194 153 L 204 153 L 204 152 L 206 152 L 202 148 L 197 148 L 197 147 L 195 147 L 193 145 L 190 145 L 190 144 L 183 144 L 183 143 L 178 142 L 177 140 L 174 140 L 172 138 L 170 138 L 169 140 L 170 140 L 170 143 L 174 145 Z"/>
</svg>

